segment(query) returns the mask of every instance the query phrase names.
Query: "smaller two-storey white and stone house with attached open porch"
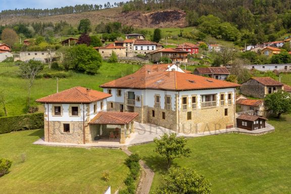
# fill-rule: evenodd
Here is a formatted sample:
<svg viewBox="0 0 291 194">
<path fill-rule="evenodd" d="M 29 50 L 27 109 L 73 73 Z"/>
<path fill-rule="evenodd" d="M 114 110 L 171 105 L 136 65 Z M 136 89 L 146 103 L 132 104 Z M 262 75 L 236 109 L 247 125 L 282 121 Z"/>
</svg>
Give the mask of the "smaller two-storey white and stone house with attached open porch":
<svg viewBox="0 0 291 194">
<path fill-rule="evenodd" d="M 125 143 L 138 114 L 106 112 L 110 96 L 73 87 L 36 100 L 44 105 L 44 141 L 85 144 L 116 139 Z"/>
</svg>

